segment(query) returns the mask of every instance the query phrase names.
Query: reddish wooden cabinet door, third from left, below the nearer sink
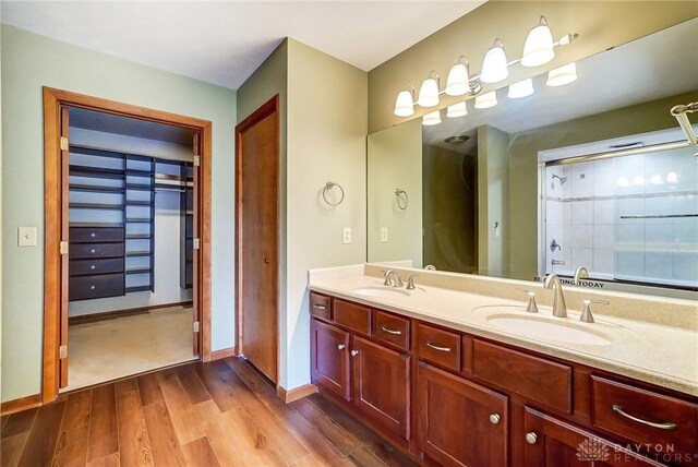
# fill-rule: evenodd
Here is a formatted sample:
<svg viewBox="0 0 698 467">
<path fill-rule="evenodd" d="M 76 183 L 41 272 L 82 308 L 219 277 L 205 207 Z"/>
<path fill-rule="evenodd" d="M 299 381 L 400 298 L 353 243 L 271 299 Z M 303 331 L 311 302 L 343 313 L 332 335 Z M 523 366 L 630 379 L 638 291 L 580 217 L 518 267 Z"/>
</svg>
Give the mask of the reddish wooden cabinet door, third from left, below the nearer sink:
<svg viewBox="0 0 698 467">
<path fill-rule="evenodd" d="M 444 466 L 507 465 L 507 397 L 418 366 L 418 447 Z"/>
</svg>

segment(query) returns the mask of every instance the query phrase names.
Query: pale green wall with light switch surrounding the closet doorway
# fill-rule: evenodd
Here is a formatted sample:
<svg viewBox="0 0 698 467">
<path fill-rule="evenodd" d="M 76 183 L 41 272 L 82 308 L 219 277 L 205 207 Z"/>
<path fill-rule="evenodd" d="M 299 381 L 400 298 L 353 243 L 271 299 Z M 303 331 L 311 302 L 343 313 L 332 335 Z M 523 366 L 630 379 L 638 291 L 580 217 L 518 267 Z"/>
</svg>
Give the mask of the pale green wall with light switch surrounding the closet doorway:
<svg viewBox="0 0 698 467">
<path fill-rule="evenodd" d="M 40 392 L 44 283 L 41 86 L 213 122 L 212 349 L 233 345 L 236 93 L 2 25 L 2 400 Z M 17 227 L 38 246 L 19 248 Z M 70 350 L 69 350 L 70 351 Z"/>
</svg>

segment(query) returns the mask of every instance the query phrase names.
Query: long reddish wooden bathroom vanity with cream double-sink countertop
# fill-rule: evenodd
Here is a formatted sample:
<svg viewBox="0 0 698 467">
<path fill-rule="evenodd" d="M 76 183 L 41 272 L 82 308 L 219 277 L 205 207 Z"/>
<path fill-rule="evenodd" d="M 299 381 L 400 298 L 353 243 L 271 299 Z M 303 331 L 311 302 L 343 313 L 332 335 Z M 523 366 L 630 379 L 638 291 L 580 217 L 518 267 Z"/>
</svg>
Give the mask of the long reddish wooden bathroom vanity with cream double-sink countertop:
<svg viewBox="0 0 698 467">
<path fill-rule="evenodd" d="M 555 318 L 540 285 L 419 271 L 407 290 L 386 268 L 311 271 L 311 379 L 418 462 L 698 463 L 695 302 L 606 294 L 581 323 L 598 291 Z"/>
</svg>

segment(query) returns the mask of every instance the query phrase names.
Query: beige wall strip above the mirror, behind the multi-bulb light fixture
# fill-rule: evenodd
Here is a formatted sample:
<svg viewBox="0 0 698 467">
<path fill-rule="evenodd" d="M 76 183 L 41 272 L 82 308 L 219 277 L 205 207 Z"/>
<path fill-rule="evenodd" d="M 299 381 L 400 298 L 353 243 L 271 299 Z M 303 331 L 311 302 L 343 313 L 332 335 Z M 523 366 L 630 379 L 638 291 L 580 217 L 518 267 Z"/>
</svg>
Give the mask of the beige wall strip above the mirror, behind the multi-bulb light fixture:
<svg viewBox="0 0 698 467">
<path fill-rule="evenodd" d="M 489 1 L 371 70 L 369 132 L 405 121 L 393 115 L 397 93 L 406 83 L 419 89 L 430 70 L 436 70 L 445 81 L 458 57 L 466 55 L 471 72 L 479 73 L 484 53 L 496 37 L 504 41 L 509 60 L 519 58 L 527 34 L 541 14 L 546 16 L 556 38 L 576 32 L 580 34 L 579 39 L 570 47 L 556 49 L 555 60 L 543 67 L 530 70 L 512 67 L 509 77 L 495 84 L 495 88 L 698 16 L 698 2 Z M 442 83 L 442 87 L 444 85 Z M 443 98 L 442 104 L 446 106 L 454 100 Z M 425 113 L 422 108 L 416 110 L 418 116 Z"/>
</svg>

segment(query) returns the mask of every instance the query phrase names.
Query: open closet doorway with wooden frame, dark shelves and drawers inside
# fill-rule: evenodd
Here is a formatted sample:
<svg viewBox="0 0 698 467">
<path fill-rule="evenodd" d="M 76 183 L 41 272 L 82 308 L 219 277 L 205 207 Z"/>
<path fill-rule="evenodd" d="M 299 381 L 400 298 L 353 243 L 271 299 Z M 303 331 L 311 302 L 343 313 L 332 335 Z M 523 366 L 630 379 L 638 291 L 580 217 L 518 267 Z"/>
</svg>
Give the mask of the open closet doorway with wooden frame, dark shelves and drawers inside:
<svg viewBox="0 0 698 467">
<path fill-rule="evenodd" d="M 44 107 L 43 400 L 209 359 L 210 122 L 51 88 Z"/>
</svg>

